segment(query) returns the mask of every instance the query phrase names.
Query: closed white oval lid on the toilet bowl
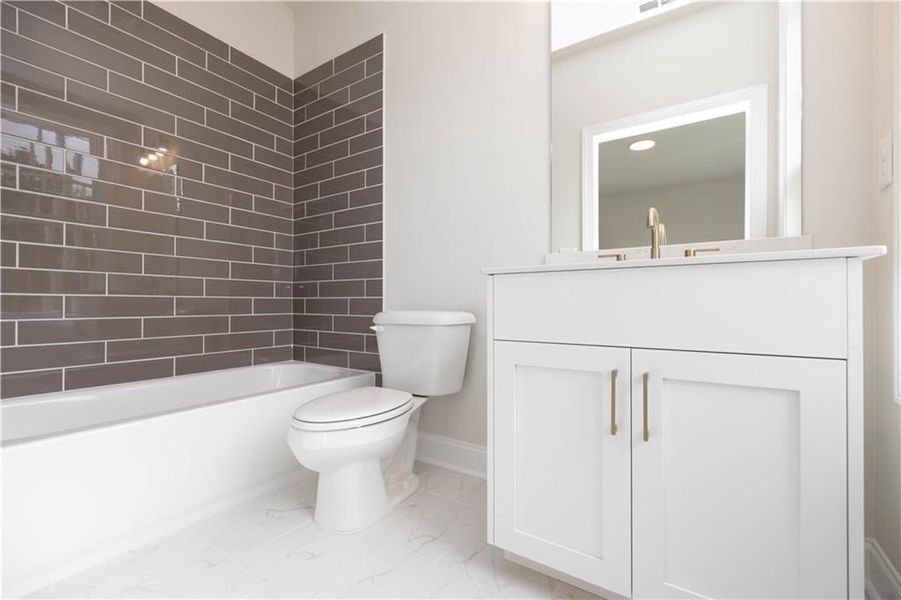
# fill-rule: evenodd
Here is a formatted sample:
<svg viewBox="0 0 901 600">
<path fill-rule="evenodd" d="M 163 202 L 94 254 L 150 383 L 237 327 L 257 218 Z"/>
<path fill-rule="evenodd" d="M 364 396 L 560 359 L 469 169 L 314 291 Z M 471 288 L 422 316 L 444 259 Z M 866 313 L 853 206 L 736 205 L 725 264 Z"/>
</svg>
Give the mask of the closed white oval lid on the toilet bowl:
<svg viewBox="0 0 901 600">
<path fill-rule="evenodd" d="M 388 388 L 362 387 L 320 396 L 294 411 L 294 425 L 345 429 L 388 420 L 407 412 L 413 395 Z"/>
</svg>

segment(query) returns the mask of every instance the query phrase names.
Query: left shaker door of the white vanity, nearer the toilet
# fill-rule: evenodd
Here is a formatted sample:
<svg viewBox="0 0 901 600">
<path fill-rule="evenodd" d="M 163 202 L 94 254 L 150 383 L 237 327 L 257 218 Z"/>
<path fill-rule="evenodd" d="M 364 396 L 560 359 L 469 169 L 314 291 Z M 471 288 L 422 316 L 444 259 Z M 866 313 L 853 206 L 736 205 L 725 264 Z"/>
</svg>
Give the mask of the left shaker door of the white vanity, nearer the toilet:
<svg viewBox="0 0 901 600">
<path fill-rule="evenodd" d="M 494 344 L 494 543 L 631 592 L 629 350 Z"/>
</svg>

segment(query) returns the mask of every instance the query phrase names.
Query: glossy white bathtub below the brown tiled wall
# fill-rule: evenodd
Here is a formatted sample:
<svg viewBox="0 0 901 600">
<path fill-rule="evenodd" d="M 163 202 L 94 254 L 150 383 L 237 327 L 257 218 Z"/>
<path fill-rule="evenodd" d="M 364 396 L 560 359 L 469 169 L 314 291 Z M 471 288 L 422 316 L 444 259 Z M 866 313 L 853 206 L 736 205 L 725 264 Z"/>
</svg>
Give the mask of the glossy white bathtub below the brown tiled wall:
<svg viewBox="0 0 901 600">
<path fill-rule="evenodd" d="M 3 596 L 303 477 L 294 410 L 374 375 L 286 362 L 2 405 Z"/>
</svg>

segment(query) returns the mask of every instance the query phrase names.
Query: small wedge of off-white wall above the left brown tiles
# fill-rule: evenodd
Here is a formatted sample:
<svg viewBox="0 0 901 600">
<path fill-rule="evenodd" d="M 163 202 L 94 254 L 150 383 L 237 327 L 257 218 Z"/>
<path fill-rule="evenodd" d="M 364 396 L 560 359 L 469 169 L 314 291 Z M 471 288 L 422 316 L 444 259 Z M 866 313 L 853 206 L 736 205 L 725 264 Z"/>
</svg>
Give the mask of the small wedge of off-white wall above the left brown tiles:
<svg viewBox="0 0 901 600">
<path fill-rule="evenodd" d="M 157 4 L 191 25 L 294 78 L 294 11 L 266 0 L 159 0 Z"/>
</svg>

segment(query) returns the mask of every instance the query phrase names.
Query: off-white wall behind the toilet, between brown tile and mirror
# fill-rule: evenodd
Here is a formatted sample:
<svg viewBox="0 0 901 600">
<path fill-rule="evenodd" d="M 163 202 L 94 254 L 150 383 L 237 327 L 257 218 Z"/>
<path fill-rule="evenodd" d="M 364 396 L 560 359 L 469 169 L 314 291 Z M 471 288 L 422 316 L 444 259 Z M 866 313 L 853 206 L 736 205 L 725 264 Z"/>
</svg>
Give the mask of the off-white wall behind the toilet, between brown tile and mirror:
<svg viewBox="0 0 901 600">
<path fill-rule="evenodd" d="M 421 427 L 484 445 L 482 267 L 549 247 L 548 6 L 302 3 L 299 73 L 385 35 L 385 306 L 475 313 L 461 394 Z"/>
</svg>

